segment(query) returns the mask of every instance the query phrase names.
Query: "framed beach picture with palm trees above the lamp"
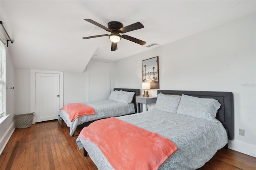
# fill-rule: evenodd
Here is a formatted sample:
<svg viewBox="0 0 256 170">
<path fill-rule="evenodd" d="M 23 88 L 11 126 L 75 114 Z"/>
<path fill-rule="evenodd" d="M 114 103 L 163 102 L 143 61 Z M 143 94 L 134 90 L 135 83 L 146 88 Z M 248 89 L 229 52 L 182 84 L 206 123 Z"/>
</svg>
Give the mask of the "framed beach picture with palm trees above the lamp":
<svg viewBox="0 0 256 170">
<path fill-rule="evenodd" d="M 159 89 L 158 56 L 142 61 L 142 82 L 150 82 L 150 89 Z"/>
</svg>

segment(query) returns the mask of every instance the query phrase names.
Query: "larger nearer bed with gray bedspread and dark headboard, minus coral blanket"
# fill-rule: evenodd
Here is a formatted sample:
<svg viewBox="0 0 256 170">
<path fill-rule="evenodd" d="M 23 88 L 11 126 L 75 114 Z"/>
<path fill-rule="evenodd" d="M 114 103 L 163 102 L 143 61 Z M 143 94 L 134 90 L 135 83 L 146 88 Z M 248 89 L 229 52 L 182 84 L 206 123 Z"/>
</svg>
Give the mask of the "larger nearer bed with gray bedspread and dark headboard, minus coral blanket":
<svg viewBox="0 0 256 170">
<path fill-rule="evenodd" d="M 158 100 L 163 98 L 158 97 L 152 111 L 118 117 L 119 120 L 160 134 L 176 144 L 178 150 L 160 165 L 160 170 L 198 169 L 208 162 L 217 150 L 227 147 L 228 139 L 234 138 L 234 102 L 231 92 L 158 90 L 158 96 L 161 96 L 161 93 L 163 95 L 187 95 L 188 97 L 216 99 L 220 103 L 220 108 L 217 109 L 216 114 L 218 121 L 214 119 L 212 122 L 198 117 L 177 114 L 178 112 L 182 113 L 180 111 L 182 109 L 179 108 L 184 103 L 181 102 L 182 99 L 178 104 L 177 113 L 168 113 L 164 110 L 166 108 L 161 105 L 164 101 L 159 105 Z M 164 109 L 157 110 L 159 107 Z M 115 136 L 112 138 L 115 139 Z M 84 148 L 84 156 L 88 153 L 99 169 L 114 169 L 96 144 L 81 138 L 80 135 L 76 143 L 79 149 Z"/>
</svg>

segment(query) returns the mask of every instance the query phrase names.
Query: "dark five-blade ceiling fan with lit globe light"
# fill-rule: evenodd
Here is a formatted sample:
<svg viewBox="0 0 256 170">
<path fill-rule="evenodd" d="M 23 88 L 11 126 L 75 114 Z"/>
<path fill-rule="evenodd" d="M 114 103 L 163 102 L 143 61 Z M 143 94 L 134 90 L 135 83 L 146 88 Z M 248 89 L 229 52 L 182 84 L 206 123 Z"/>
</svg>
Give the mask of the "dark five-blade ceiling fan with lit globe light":
<svg viewBox="0 0 256 170">
<path fill-rule="evenodd" d="M 138 43 L 140 45 L 144 45 L 146 42 L 139 40 L 137 38 L 131 37 L 131 36 L 127 36 L 127 35 L 120 35 L 120 33 L 126 33 L 126 32 L 130 32 L 130 31 L 134 31 L 134 30 L 138 30 L 141 28 L 144 28 L 144 26 L 140 23 L 140 22 L 136 22 L 134 24 L 131 24 L 129 26 L 123 27 L 123 24 L 117 21 L 112 21 L 108 23 L 108 28 L 106 28 L 105 26 L 102 26 L 101 24 L 99 24 L 98 22 L 95 22 L 94 20 L 91 19 L 84 19 L 87 22 L 90 22 L 108 32 L 111 32 L 110 35 L 108 34 L 103 34 L 103 35 L 98 35 L 98 36 L 90 36 L 90 37 L 83 37 L 83 39 L 89 39 L 89 38 L 96 38 L 96 37 L 104 37 L 104 36 L 108 36 L 108 38 L 111 40 L 111 51 L 115 51 L 117 48 L 117 42 L 119 42 L 121 40 L 121 38 L 124 38 L 126 40 L 129 40 L 131 42 L 135 42 Z"/>
</svg>

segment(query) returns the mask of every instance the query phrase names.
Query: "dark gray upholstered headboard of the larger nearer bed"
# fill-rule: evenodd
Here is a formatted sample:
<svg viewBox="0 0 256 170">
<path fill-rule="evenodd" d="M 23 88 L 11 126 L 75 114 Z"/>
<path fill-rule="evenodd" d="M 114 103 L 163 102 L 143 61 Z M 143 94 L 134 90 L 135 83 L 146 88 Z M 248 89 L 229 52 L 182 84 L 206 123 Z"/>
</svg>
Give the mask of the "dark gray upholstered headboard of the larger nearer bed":
<svg viewBox="0 0 256 170">
<path fill-rule="evenodd" d="M 234 99 L 232 92 L 218 91 L 177 91 L 177 90 L 158 90 L 157 93 L 172 94 L 172 95 L 190 95 L 201 98 L 213 98 L 221 104 L 217 112 L 218 119 L 226 128 L 228 139 L 234 138 Z"/>
</svg>

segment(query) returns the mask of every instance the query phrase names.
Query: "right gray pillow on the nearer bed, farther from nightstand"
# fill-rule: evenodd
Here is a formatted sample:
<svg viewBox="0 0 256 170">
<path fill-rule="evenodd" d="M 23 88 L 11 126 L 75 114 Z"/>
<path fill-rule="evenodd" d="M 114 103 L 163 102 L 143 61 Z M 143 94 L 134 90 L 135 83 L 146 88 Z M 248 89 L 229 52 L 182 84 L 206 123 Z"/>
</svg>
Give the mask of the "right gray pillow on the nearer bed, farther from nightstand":
<svg viewBox="0 0 256 170">
<path fill-rule="evenodd" d="M 215 99 L 206 99 L 182 95 L 177 114 L 218 122 L 215 119 L 220 103 Z"/>
</svg>

